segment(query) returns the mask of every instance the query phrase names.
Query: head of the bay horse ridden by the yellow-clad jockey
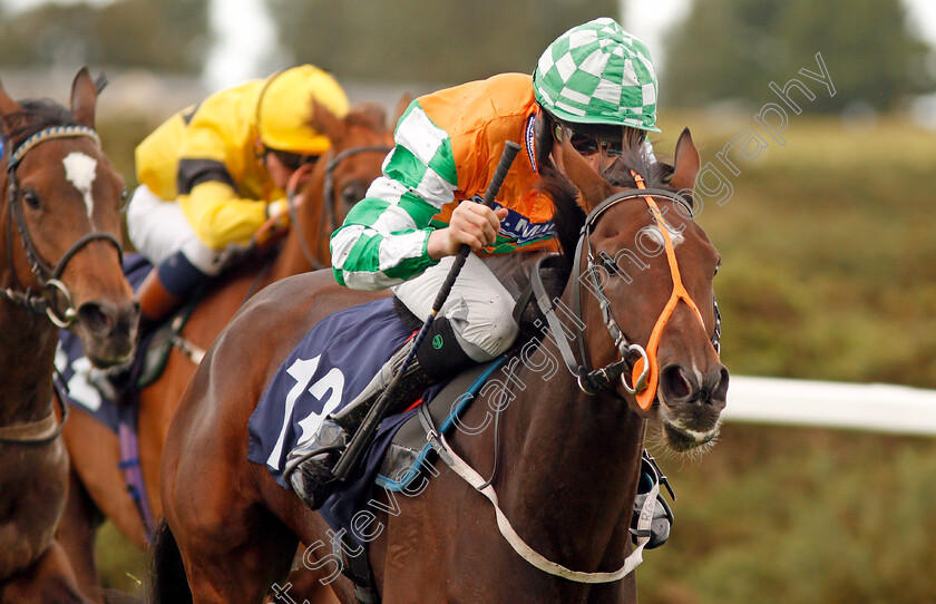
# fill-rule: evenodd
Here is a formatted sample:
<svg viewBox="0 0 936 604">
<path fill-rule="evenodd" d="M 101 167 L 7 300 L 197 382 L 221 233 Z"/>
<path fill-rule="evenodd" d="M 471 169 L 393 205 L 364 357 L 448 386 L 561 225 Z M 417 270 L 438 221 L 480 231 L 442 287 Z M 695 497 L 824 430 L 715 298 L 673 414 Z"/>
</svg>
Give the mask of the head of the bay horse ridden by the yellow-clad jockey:
<svg viewBox="0 0 936 604">
<path fill-rule="evenodd" d="M 328 136 L 332 147 L 315 164 L 303 186 L 303 212 L 296 235 L 314 246 L 315 262 L 306 257 L 309 263 L 328 266 L 331 263 L 329 236 L 380 176 L 393 135 L 383 108 L 371 103 L 357 104 L 344 118 L 338 118 L 313 101 L 311 126 Z M 311 252 L 306 251 L 305 255 L 310 256 Z"/>
</svg>

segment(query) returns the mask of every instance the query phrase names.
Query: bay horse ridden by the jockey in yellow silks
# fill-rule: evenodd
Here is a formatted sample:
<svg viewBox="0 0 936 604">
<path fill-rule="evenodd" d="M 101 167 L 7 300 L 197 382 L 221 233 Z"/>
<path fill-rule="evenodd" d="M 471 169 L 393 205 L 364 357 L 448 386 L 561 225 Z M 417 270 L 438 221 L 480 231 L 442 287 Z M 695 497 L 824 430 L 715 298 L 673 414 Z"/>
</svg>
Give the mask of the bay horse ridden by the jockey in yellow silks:
<svg viewBox="0 0 936 604">
<path fill-rule="evenodd" d="M 313 107 L 312 126 L 332 142 L 329 155 L 306 175 L 292 207 L 292 226 L 271 253 L 245 262 L 204 294 L 181 333 L 162 376 L 138 392 L 139 465 L 144 500 L 150 518 L 162 514 L 159 462 L 169 420 L 185 384 L 195 371 L 198 350 L 206 349 L 237 309 L 261 288 L 320 269 L 331 262 L 329 235 L 344 220 L 351 205 L 364 196 L 380 174 L 392 135 L 383 108 L 360 104 L 343 119 L 324 107 Z M 118 437 L 90 415 L 77 409 L 65 429 L 72 460 L 68 509 L 59 533 L 84 586 L 97 584 L 94 564 L 95 530 L 109 518 L 138 547 L 147 543 L 147 526 L 126 488 L 118 464 Z"/>
</svg>

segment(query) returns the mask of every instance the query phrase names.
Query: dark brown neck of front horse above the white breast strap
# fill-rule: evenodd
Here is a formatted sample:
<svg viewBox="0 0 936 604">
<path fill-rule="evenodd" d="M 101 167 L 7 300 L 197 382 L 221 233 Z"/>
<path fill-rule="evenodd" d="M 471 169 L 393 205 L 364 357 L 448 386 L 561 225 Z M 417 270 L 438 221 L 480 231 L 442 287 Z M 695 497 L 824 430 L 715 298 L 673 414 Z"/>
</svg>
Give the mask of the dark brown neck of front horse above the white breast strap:
<svg viewBox="0 0 936 604">
<path fill-rule="evenodd" d="M 544 547 L 568 555 L 567 566 L 595 569 L 605 553 L 618 561 L 626 547 L 644 421 L 622 401 L 585 394 L 553 337 L 542 340 L 529 362 L 509 361 L 516 400 L 501 418 L 496 488 L 508 516 L 545 538 Z"/>
</svg>

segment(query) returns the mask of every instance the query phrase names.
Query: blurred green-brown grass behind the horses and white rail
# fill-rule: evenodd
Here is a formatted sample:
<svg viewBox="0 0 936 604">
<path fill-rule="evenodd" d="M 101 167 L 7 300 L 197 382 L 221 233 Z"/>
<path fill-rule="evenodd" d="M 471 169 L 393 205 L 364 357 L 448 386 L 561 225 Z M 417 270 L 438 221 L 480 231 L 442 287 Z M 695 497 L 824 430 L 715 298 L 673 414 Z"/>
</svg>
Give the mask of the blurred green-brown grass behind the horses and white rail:
<svg viewBox="0 0 936 604">
<path fill-rule="evenodd" d="M 704 165 L 755 125 L 665 114 L 659 154 L 672 156 L 684 126 Z M 128 183 L 149 127 L 100 125 Z M 936 388 L 936 134 L 899 117 L 791 115 L 786 145 L 761 135 L 758 158 L 731 156 L 731 199 L 699 217 L 722 254 L 725 364 Z M 652 452 L 679 500 L 672 538 L 637 573 L 642 602 L 936 602 L 936 440 L 729 423 L 699 460 Z M 110 525 L 98 559 L 108 586 L 146 576 Z"/>
</svg>

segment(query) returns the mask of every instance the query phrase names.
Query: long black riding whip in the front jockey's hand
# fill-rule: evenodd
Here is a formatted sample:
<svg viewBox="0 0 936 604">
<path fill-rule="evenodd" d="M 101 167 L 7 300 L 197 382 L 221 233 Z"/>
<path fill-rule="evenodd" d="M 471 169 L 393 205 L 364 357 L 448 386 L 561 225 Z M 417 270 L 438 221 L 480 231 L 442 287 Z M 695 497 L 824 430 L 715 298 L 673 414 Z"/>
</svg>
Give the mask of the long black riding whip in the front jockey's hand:
<svg viewBox="0 0 936 604">
<path fill-rule="evenodd" d="M 508 140 L 504 147 L 504 153 L 500 156 L 500 160 L 497 164 L 497 169 L 494 173 L 494 176 L 490 179 L 490 184 L 488 184 L 488 188 L 485 192 L 484 204 L 488 207 L 494 206 L 494 199 L 497 197 L 497 193 L 500 191 L 500 185 L 504 184 L 504 178 L 507 176 L 507 173 L 510 171 L 510 166 L 514 164 L 514 159 L 517 157 L 517 153 L 520 150 L 520 146 L 514 143 L 513 140 Z M 407 354 L 407 358 L 403 359 L 402 364 L 397 369 L 396 373 L 393 373 L 393 378 L 390 380 L 390 383 L 387 388 L 381 392 L 380 398 L 377 400 L 374 406 L 368 411 L 367 417 L 364 417 L 364 421 L 361 423 L 361 427 L 358 428 L 358 431 L 354 432 L 354 436 L 351 437 L 351 441 L 345 447 L 344 451 L 341 454 L 341 457 L 335 464 L 334 469 L 332 470 L 332 475 L 338 480 L 344 480 L 351 474 L 351 470 L 354 469 L 354 466 L 358 464 L 361 455 L 367 450 L 370 446 L 371 441 L 373 440 L 374 435 L 377 433 L 377 428 L 380 425 L 380 421 L 383 419 L 383 415 L 387 411 L 387 408 L 393 401 L 397 391 L 400 387 L 400 380 L 402 376 L 406 373 L 407 368 L 410 366 L 412 360 L 416 358 L 416 351 L 419 348 L 419 344 L 422 343 L 422 340 L 426 338 L 426 334 L 429 332 L 429 328 L 432 327 L 432 322 L 436 320 L 436 315 L 442 308 L 442 304 L 446 303 L 449 293 L 451 292 L 451 288 L 455 284 L 455 280 L 458 279 L 458 274 L 461 272 L 461 267 L 465 266 L 465 261 L 468 260 L 468 254 L 471 252 L 471 246 L 467 243 L 462 243 L 461 247 L 458 250 L 458 255 L 455 257 L 455 262 L 451 264 L 451 270 L 449 270 L 449 274 L 446 277 L 446 281 L 442 283 L 442 288 L 439 290 L 439 294 L 436 296 L 436 302 L 432 304 L 432 310 L 429 312 L 429 316 L 426 319 L 426 322 L 419 330 L 419 333 L 416 335 L 416 341 L 413 342 L 412 348 Z"/>
</svg>

